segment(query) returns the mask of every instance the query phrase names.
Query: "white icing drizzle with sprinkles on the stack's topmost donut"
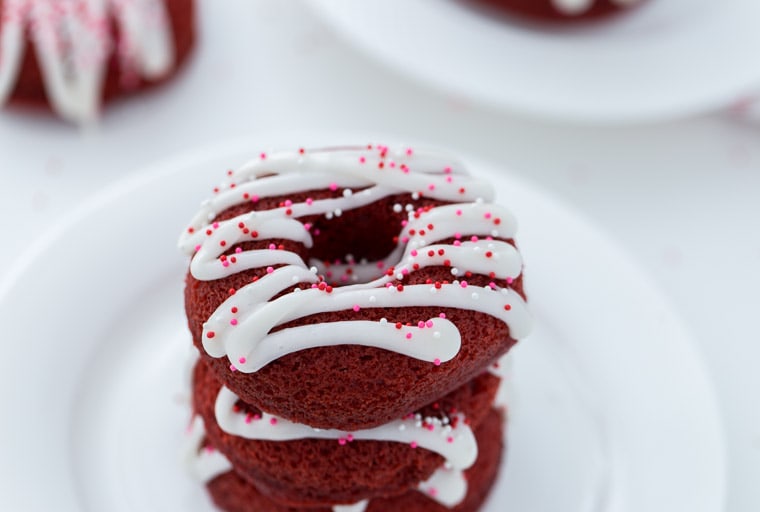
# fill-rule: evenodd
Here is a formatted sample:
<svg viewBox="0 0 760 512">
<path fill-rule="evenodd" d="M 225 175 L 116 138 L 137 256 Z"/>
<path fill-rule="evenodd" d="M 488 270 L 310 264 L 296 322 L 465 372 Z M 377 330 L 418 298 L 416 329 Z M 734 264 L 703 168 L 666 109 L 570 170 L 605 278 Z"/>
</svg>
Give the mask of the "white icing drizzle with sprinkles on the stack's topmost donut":
<svg viewBox="0 0 760 512">
<path fill-rule="evenodd" d="M 217 221 L 219 213 L 263 197 L 288 197 L 309 190 L 332 190 L 333 197 L 282 201 L 279 207 Z M 342 193 L 341 193 L 342 191 Z M 332 265 L 349 276 L 349 284 L 332 288 L 319 261 L 304 262 L 278 249 L 243 250 L 256 239 L 286 239 L 311 247 L 315 233 L 299 218 L 343 212 L 401 193 L 451 202 L 408 211 L 396 249 L 381 261 Z M 461 162 L 433 151 L 391 150 L 383 145 L 262 153 L 236 171 L 204 202 L 179 245 L 192 255 L 190 272 L 198 280 L 224 278 L 247 269 L 266 269 L 263 277 L 224 301 L 203 327 L 203 347 L 213 357 L 227 356 L 232 371 L 256 372 L 286 354 L 308 348 L 360 344 L 392 350 L 440 365 L 453 359 L 460 333 L 444 314 L 417 325 L 387 321 L 343 320 L 276 327 L 329 311 L 358 313 L 364 308 L 435 306 L 467 309 L 502 320 L 510 336 L 528 334 L 531 318 L 523 298 L 509 287 L 522 271 L 522 259 L 511 239 L 512 214 L 490 203 L 493 189 L 470 177 Z M 466 238 L 462 236 L 466 235 Z M 453 241 L 452 241 L 453 240 Z M 228 253 L 236 247 L 233 253 Z M 230 255 L 231 254 L 231 255 Z M 404 279 L 429 266 L 450 268 L 452 281 L 404 285 Z M 277 268 L 275 268 L 277 267 Z M 469 286 L 469 272 L 489 276 L 485 287 Z M 283 293 L 290 290 L 289 293 Z"/>
</svg>

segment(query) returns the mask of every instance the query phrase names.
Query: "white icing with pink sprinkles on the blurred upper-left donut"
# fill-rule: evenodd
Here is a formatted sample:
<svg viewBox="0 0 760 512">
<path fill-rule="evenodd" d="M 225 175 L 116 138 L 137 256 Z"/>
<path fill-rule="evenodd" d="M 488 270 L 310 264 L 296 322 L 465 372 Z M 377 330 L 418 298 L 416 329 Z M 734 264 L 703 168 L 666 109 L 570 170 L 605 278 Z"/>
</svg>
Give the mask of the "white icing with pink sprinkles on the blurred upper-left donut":
<svg viewBox="0 0 760 512">
<path fill-rule="evenodd" d="M 120 34 L 117 43 L 111 20 Z M 3 0 L 0 104 L 16 85 L 27 33 L 53 110 L 83 123 L 97 117 L 112 53 L 125 80 L 169 72 L 175 59 L 170 30 L 164 0 Z"/>
</svg>

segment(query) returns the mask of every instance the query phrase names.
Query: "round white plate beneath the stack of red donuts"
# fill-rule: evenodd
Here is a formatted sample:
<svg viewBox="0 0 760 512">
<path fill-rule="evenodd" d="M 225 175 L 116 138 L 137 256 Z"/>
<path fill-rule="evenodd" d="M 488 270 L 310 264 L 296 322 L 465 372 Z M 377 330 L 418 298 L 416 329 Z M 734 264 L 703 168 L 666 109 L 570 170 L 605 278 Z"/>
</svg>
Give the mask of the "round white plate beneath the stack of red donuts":
<svg viewBox="0 0 760 512">
<path fill-rule="evenodd" d="M 175 240 L 254 149 L 207 148 L 118 183 L 0 282 L 0 509 L 211 510 L 178 457 L 190 339 Z M 469 160 L 521 219 L 538 325 L 514 351 L 508 463 L 486 512 L 721 510 L 713 390 L 646 274 L 543 192 Z"/>
</svg>

